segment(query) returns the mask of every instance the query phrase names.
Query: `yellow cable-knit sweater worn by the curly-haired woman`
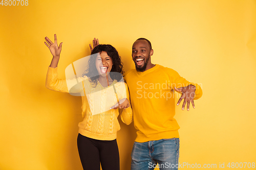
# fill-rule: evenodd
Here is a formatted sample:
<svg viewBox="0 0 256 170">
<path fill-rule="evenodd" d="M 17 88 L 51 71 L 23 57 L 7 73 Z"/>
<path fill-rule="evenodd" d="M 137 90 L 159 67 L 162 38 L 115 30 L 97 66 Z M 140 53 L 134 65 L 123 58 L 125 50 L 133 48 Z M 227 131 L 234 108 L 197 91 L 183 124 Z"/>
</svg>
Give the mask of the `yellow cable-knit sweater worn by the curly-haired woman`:
<svg viewBox="0 0 256 170">
<path fill-rule="evenodd" d="M 110 87 L 103 87 L 99 82 L 96 87 L 93 87 L 86 76 L 75 80 L 61 80 L 58 79 L 57 67 L 49 67 L 46 78 L 46 87 L 50 90 L 79 93 L 81 95 L 83 121 L 78 124 L 78 132 L 83 136 L 97 140 L 116 139 L 117 131 L 120 130 L 117 119 L 119 112 L 122 122 L 126 125 L 133 121 L 131 107 L 109 110 L 109 106 L 117 103 L 113 85 L 116 88 L 119 100 L 123 98 L 130 99 L 126 83 L 123 85 L 123 83 L 116 80 L 113 81 Z M 95 95 L 96 93 L 97 95 Z"/>
</svg>

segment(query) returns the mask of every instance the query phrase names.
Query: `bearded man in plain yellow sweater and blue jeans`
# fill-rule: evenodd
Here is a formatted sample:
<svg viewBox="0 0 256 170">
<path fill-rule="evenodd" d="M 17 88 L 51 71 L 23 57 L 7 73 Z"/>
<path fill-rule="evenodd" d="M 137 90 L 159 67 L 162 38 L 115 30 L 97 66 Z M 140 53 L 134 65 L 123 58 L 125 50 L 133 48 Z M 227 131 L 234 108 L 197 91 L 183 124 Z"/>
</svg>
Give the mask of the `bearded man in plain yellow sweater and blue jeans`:
<svg viewBox="0 0 256 170">
<path fill-rule="evenodd" d="M 94 46 L 98 40 L 94 39 Z M 178 169 L 180 128 L 175 115 L 174 90 L 182 93 L 182 110 L 202 96 L 199 85 L 180 77 L 178 72 L 151 62 L 151 42 L 137 39 L 132 48 L 136 69 L 127 71 L 124 79 L 129 87 L 134 126 L 138 130 L 132 150 L 132 170 Z M 158 163 L 158 165 L 157 165 Z"/>
</svg>

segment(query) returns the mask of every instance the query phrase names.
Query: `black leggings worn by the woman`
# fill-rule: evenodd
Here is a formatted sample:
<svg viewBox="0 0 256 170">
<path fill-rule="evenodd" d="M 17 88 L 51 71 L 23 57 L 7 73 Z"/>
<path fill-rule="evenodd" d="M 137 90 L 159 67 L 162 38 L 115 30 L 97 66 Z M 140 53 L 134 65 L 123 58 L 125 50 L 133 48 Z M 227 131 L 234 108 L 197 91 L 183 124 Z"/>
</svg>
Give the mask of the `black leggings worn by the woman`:
<svg viewBox="0 0 256 170">
<path fill-rule="evenodd" d="M 119 151 L 115 140 L 96 140 L 81 134 L 77 148 L 84 170 L 119 170 Z"/>
</svg>

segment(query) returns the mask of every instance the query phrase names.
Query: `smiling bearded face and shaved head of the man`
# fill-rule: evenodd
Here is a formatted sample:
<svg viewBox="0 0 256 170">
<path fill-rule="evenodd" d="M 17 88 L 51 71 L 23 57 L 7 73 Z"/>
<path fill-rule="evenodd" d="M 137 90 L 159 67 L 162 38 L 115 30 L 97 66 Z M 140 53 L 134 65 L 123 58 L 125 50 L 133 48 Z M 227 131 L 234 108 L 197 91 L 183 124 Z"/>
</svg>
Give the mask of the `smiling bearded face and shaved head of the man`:
<svg viewBox="0 0 256 170">
<path fill-rule="evenodd" d="M 150 60 L 150 45 L 146 40 L 137 40 L 133 44 L 132 57 L 137 71 L 145 71 Z"/>
</svg>

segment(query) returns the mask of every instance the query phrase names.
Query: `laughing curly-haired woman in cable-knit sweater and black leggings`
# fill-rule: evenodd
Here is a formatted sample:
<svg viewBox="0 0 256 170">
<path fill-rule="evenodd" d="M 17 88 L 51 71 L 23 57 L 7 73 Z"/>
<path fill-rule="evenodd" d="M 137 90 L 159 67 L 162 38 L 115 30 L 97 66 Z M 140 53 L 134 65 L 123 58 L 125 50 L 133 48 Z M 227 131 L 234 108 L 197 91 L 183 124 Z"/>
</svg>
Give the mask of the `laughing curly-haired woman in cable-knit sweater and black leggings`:
<svg viewBox="0 0 256 170">
<path fill-rule="evenodd" d="M 127 85 L 122 83 L 123 66 L 118 52 L 111 45 L 97 45 L 92 50 L 84 76 L 66 81 L 57 78 L 62 42 L 58 46 L 56 34 L 54 43 L 48 37 L 45 40 L 53 55 L 46 87 L 55 91 L 80 93 L 82 96 L 84 118 L 78 124 L 77 148 L 83 169 L 99 170 L 100 164 L 103 170 L 120 169 L 116 142 L 120 126 L 117 120 L 119 111 L 116 108 L 120 109 L 121 120 L 127 125 L 132 123 L 133 113 Z"/>
</svg>

